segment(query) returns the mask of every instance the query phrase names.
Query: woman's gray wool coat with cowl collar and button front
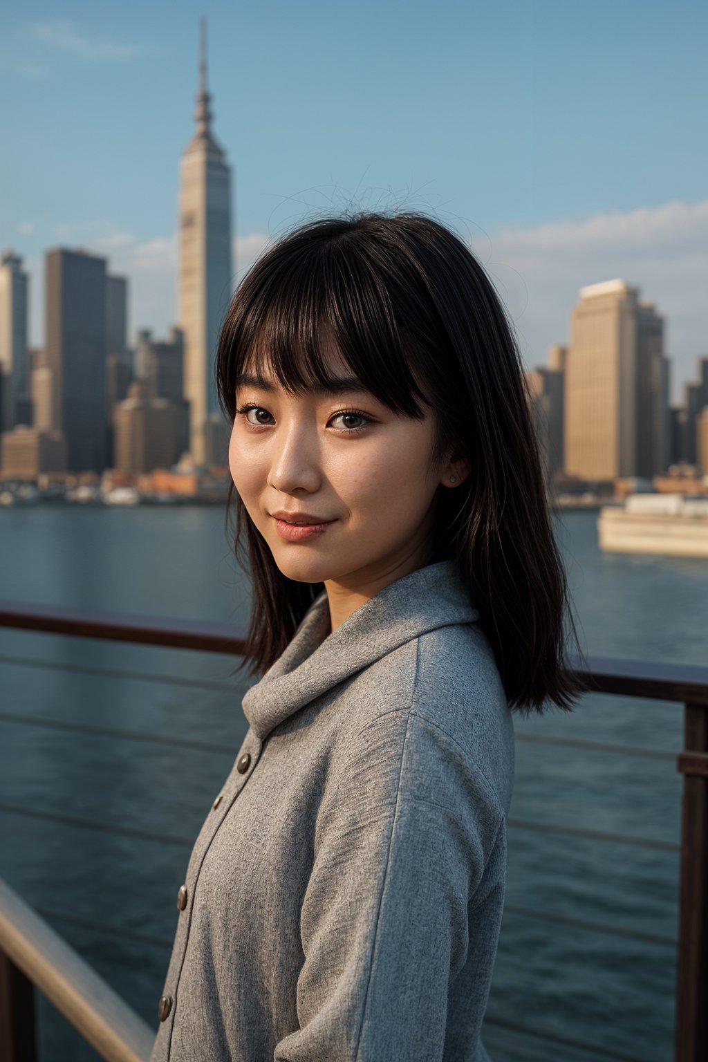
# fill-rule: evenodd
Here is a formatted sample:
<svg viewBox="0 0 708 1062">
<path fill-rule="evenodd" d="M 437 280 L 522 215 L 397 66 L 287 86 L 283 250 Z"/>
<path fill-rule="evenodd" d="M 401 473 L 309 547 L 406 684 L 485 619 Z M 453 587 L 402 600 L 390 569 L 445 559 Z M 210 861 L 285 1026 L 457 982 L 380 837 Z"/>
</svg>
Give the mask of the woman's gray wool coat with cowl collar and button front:
<svg viewBox="0 0 708 1062">
<path fill-rule="evenodd" d="M 478 619 L 452 561 L 334 632 L 323 592 L 246 692 L 151 1062 L 488 1062 L 514 729 Z"/>
</svg>

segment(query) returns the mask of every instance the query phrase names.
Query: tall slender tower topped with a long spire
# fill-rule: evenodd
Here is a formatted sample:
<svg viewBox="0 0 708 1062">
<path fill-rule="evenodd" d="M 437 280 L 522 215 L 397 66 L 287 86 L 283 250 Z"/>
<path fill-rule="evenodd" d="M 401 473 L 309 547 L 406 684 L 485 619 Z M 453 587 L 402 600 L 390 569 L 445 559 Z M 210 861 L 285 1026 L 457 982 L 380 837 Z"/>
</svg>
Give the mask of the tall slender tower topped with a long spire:
<svg viewBox="0 0 708 1062">
<path fill-rule="evenodd" d="M 230 168 L 211 132 L 206 19 L 201 19 L 196 129 L 182 156 L 179 181 L 179 326 L 185 337 L 189 448 L 197 465 L 224 463 L 214 365 L 219 330 L 231 295 Z"/>
</svg>

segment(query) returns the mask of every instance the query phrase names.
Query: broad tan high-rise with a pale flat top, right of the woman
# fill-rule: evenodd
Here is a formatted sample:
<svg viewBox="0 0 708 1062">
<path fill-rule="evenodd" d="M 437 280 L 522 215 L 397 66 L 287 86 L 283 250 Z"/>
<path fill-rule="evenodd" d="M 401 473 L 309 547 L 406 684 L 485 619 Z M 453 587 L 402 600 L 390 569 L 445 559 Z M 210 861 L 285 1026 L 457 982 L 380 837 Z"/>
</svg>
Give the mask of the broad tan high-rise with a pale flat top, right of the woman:
<svg viewBox="0 0 708 1062">
<path fill-rule="evenodd" d="M 582 288 L 565 361 L 565 470 L 651 477 L 669 459 L 663 321 L 624 280 Z"/>
</svg>

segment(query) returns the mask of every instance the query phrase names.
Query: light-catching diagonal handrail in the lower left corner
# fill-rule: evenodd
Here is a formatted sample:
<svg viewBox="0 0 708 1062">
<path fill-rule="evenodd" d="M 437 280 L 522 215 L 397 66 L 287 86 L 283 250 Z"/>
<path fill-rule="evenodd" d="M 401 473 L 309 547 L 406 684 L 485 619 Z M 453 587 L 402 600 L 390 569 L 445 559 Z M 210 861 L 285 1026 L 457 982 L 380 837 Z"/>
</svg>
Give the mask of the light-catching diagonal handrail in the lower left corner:
<svg viewBox="0 0 708 1062">
<path fill-rule="evenodd" d="M 0 950 L 107 1062 L 145 1062 L 155 1032 L 0 878 Z"/>
</svg>

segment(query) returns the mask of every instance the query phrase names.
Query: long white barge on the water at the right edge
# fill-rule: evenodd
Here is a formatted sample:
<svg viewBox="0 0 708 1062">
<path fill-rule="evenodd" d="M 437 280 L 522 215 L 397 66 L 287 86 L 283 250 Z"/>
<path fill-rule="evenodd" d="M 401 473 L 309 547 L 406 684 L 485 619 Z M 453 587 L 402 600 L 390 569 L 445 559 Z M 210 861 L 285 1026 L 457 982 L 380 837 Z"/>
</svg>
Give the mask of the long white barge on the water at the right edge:
<svg viewBox="0 0 708 1062">
<path fill-rule="evenodd" d="M 708 497 L 631 494 L 601 508 L 598 535 L 608 551 L 708 559 Z"/>
</svg>

